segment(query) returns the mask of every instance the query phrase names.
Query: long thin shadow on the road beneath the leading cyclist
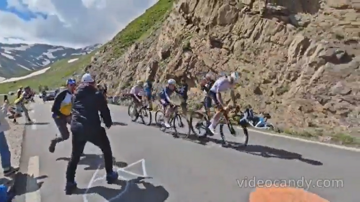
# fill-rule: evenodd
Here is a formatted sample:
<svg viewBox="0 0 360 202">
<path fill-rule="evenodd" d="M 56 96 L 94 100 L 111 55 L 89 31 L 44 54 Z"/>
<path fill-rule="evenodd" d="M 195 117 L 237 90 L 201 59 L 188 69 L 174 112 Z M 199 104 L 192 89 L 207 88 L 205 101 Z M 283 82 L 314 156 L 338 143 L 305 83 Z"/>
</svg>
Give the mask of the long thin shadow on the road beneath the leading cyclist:
<svg viewBox="0 0 360 202">
<path fill-rule="evenodd" d="M 215 138 L 211 138 L 211 137 L 206 137 L 206 138 L 198 138 L 195 135 L 189 136 L 188 138 L 183 138 L 183 139 L 187 139 L 189 141 L 195 142 L 197 144 L 200 145 L 206 145 L 208 142 L 213 142 L 216 144 L 222 144 L 222 141 L 220 139 L 215 139 Z M 277 149 L 277 148 L 273 148 L 273 147 L 268 147 L 268 146 L 262 146 L 262 145 L 251 145 L 249 144 L 248 146 L 239 146 L 238 142 L 228 142 L 229 144 L 227 146 L 222 146 L 224 148 L 231 148 L 234 150 L 237 150 L 239 152 L 245 152 L 251 155 L 255 155 L 255 156 L 262 156 L 265 158 L 279 158 L 279 159 L 287 159 L 287 160 L 300 160 L 302 162 L 305 162 L 307 164 L 311 164 L 311 165 L 316 165 L 316 166 L 320 166 L 323 165 L 322 162 L 320 161 L 316 161 L 316 160 L 312 160 L 312 159 L 304 159 L 302 157 L 301 154 L 299 153 L 295 153 L 295 152 L 291 152 L 291 151 L 286 151 L 286 150 L 282 150 L 282 149 Z"/>
</svg>

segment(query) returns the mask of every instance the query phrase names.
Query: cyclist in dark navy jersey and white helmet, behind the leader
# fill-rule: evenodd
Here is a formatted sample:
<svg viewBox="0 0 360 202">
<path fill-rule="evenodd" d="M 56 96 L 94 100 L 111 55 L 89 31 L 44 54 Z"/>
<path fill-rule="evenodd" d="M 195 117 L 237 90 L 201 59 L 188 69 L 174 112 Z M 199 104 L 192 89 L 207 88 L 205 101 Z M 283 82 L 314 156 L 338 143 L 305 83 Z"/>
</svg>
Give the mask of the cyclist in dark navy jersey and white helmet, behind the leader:
<svg viewBox="0 0 360 202">
<path fill-rule="evenodd" d="M 164 125 L 167 128 L 171 127 L 169 120 L 170 120 L 170 114 L 174 111 L 174 107 L 171 104 L 170 96 L 174 92 L 179 93 L 179 91 L 177 91 L 176 89 L 176 81 L 175 79 L 169 79 L 167 80 L 167 86 L 164 89 L 162 89 L 159 93 L 160 102 L 165 111 L 165 118 L 167 119 Z M 170 105 L 170 107 L 167 109 L 168 105 Z"/>
</svg>

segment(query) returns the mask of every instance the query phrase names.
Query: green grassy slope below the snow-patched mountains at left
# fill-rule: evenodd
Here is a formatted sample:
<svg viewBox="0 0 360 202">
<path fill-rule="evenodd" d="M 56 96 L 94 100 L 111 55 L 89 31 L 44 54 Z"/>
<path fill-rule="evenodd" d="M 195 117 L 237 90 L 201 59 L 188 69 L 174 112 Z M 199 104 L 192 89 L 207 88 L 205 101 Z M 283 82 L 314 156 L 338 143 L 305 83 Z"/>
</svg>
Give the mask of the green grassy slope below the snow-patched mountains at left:
<svg viewBox="0 0 360 202">
<path fill-rule="evenodd" d="M 0 94 L 8 93 L 9 91 L 16 91 L 19 86 L 30 86 L 37 91 L 39 85 L 48 87 L 59 87 L 64 86 L 66 79 L 73 77 L 74 73 L 80 72 L 87 64 L 90 63 L 91 56 L 96 51 L 88 55 L 76 55 L 70 58 L 59 60 L 49 66 L 45 73 L 39 74 L 30 78 L 22 79 L 19 81 L 1 83 Z M 78 58 L 78 60 L 68 63 L 68 60 Z"/>
</svg>

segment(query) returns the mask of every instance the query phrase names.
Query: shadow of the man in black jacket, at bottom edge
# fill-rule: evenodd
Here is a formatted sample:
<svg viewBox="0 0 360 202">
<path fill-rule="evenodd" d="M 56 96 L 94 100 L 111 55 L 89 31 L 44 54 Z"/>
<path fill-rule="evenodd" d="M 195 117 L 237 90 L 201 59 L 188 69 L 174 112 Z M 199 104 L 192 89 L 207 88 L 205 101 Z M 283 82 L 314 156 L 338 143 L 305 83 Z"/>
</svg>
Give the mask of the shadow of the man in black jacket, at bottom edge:
<svg viewBox="0 0 360 202">
<path fill-rule="evenodd" d="M 77 189 L 74 194 L 98 194 L 107 201 L 122 202 L 163 202 L 169 197 L 163 186 L 154 186 L 142 181 L 143 179 L 139 177 L 129 181 L 118 180 L 116 184 L 121 186 L 119 189 L 96 186 L 89 190 Z"/>
</svg>

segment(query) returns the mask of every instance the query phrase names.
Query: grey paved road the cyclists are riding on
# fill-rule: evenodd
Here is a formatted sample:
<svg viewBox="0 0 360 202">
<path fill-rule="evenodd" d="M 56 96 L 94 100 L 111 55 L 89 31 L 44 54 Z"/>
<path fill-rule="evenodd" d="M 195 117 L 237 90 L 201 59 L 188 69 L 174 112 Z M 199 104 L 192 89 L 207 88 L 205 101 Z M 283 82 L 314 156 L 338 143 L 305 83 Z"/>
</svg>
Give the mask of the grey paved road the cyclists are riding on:
<svg viewBox="0 0 360 202">
<path fill-rule="evenodd" d="M 257 183 L 293 179 L 304 186 L 305 180 L 312 180 L 309 191 L 331 202 L 359 199 L 359 152 L 255 132 L 245 150 L 223 148 L 214 140 L 203 145 L 173 138 L 153 126 L 132 123 L 125 107 L 113 105 L 113 121 L 118 124 L 107 132 L 122 180 L 116 185 L 104 183 L 101 151 L 89 143 L 76 174 L 80 189 L 77 194 L 66 196 L 64 173 L 71 144 L 60 143 L 55 153 L 48 152 L 50 139 L 57 132 L 50 118 L 50 106 L 51 103 L 32 106 L 31 116 L 37 124 L 26 128 L 17 202 L 248 201 L 254 184 L 243 179 L 254 177 Z M 241 142 L 241 138 L 229 140 Z M 264 151 L 266 157 L 261 155 Z M 139 180 L 141 176 L 151 179 Z M 336 187 L 341 186 L 335 181 L 338 179 L 343 187 Z"/>
</svg>

